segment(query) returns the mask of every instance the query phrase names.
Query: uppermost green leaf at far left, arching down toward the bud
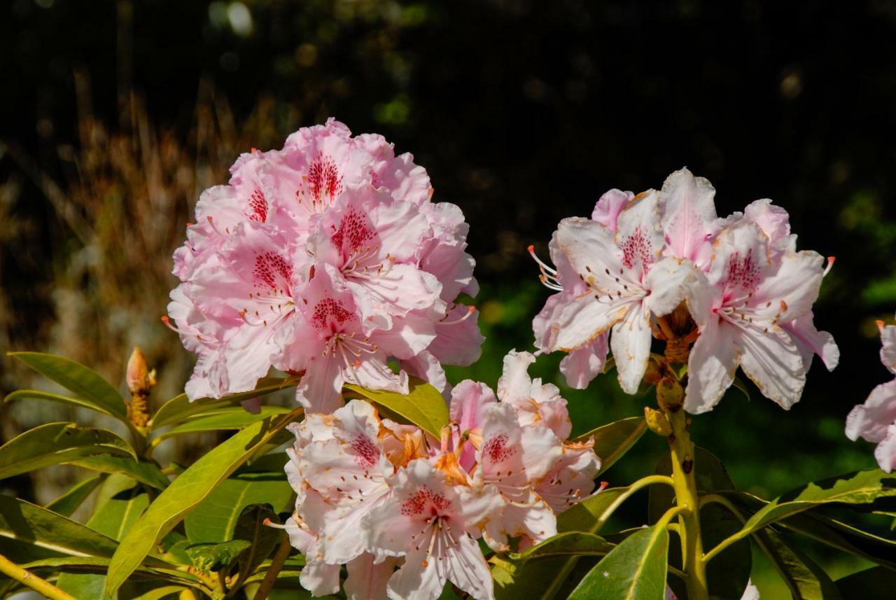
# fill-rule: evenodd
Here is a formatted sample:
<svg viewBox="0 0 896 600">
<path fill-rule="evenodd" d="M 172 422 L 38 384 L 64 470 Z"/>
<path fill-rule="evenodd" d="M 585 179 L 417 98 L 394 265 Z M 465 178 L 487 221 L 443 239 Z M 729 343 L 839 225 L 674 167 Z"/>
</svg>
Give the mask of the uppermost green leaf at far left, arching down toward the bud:
<svg viewBox="0 0 896 600">
<path fill-rule="evenodd" d="M 125 399 L 111 383 L 83 364 L 75 363 L 62 356 L 39 352 L 8 352 L 6 355 L 18 358 L 47 379 L 56 381 L 66 390 L 73 391 L 82 400 L 81 406 L 116 416 L 122 421 L 127 419 Z"/>
</svg>

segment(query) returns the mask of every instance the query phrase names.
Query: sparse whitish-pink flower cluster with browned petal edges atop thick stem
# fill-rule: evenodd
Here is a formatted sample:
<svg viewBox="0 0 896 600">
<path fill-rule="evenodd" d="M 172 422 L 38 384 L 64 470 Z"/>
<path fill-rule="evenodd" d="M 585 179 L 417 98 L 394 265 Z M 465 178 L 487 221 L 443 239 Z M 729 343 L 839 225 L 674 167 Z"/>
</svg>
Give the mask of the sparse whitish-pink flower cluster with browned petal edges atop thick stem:
<svg viewBox="0 0 896 600">
<path fill-rule="evenodd" d="M 539 351 L 568 353 L 560 368 L 571 386 L 601 372 L 609 347 L 623 390 L 638 390 L 651 328 L 682 302 L 700 333 L 688 361 L 691 413 L 715 406 L 738 365 L 785 408 L 799 399 L 813 355 L 836 366 L 840 351 L 813 322 L 823 257 L 797 252 L 787 211 L 771 201 L 720 219 L 714 196 L 685 168 L 659 191 L 611 190 L 590 219 L 560 222 L 550 243 L 556 269 L 539 261 L 557 293 L 533 330 Z"/>
</svg>

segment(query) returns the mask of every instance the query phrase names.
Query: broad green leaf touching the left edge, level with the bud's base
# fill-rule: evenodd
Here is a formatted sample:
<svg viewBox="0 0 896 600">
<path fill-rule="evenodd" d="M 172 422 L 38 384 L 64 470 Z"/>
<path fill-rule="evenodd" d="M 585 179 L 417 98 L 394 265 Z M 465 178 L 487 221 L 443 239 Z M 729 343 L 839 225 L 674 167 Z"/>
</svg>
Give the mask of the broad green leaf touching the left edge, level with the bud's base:
<svg viewBox="0 0 896 600">
<path fill-rule="evenodd" d="M 73 423 L 48 423 L 0 446 L 0 479 L 95 454 L 136 459 L 131 445 L 106 429 Z"/>
</svg>

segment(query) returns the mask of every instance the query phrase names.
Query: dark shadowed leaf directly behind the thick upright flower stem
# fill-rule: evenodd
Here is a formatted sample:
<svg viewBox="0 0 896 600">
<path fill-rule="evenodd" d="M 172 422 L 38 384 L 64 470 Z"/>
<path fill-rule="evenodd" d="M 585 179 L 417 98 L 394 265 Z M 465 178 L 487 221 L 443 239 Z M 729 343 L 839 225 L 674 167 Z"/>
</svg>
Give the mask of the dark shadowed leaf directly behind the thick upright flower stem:
<svg viewBox="0 0 896 600">
<path fill-rule="evenodd" d="M 734 490 L 734 483 L 728 476 L 728 469 L 722 462 L 707 450 L 695 446 L 694 473 L 697 490 L 702 493 L 713 493 L 723 490 Z M 657 466 L 659 475 L 672 475 L 672 463 L 669 455 L 663 457 Z M 650 486 L 649 520 L 658 521 L 663 513 L 672 507 L 674 490 L 668 485 Z M 733 536 L 741 527 L 740 519 L 720 504 L 711 503 L 700 509 L 700 528 L 703 548 L 710 549 L 728 536 Z M 680 544 L 672 544 L 669 561 L 674 565 L 681 564 Z M 753 553 L 750 542 L 742 540 L 728 546 L 722 553 L 712 559 L 706 566 L 707 585 L 712 596 L 719 600 L 740 600 L 750 579 L 753 568 Z M 676 579 L 670 581 L 676 595 L 685 597 L 682 583 Z"/>
</svg>

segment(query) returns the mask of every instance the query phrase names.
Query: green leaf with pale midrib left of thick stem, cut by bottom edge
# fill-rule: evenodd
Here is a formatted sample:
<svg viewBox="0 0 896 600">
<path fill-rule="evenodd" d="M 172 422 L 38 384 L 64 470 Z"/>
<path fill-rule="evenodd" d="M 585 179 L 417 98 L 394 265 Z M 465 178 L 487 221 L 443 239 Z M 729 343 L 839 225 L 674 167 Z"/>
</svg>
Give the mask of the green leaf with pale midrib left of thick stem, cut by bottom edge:
<svg viewBox="0 0 896 600">
<path fill-rule="evenodd" d="M 569 600 L 663 600 L 668 542 L 664 522 L 626 537 L 579 582 Z"/>
</svg>

